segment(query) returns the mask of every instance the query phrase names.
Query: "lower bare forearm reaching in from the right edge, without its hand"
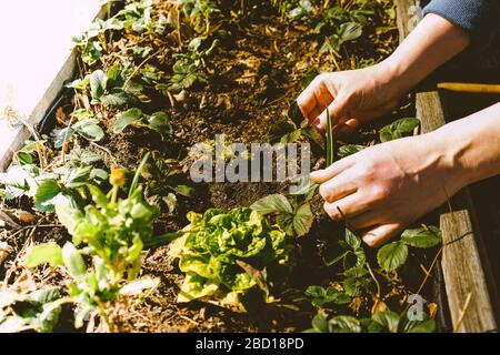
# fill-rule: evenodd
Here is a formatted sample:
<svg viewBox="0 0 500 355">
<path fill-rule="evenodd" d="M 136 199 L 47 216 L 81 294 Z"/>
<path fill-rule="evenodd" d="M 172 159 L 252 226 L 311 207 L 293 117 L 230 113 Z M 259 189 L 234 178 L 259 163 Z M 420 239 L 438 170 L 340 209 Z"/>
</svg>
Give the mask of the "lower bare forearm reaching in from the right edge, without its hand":
<svg viewBox="0 0 500 355">
<path fill-rule="evenodd" d="M 430 135 L 462 186 L 500 174 L 500 103 Z"/>
</svg>

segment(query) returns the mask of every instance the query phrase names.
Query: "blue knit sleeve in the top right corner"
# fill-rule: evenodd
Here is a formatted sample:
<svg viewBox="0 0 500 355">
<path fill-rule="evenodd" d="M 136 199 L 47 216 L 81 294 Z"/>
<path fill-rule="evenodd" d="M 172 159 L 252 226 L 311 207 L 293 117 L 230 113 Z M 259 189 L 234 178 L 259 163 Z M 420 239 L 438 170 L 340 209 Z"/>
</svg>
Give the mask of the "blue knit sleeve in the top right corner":
<svg viewBox="0 0 500 355">
<path fill-rule="evenodd" d="M 474 50 L 484 50 L 500 31 L 500 0 L 432 0 L 423 14 L 436 13 L 470 33 Z"/>
</svg>

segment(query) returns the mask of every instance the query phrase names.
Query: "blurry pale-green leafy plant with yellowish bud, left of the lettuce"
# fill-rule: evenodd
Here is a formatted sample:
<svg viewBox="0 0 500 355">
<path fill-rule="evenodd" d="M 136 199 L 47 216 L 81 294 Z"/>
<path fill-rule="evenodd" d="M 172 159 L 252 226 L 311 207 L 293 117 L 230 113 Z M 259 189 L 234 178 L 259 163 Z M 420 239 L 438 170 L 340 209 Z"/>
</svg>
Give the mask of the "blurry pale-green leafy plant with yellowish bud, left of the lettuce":
<svg viewBox="0 0 500 355">
<path fill-rule="evenodd" d="M 49 263 L 63 267 L 71 276 L 69 296 L 58 302 L 77 305 L 77 327 L 82 326 L 89 314 L 99 314 L 106 322 L 106 307 L 120 293 L 154 285 L 153 281 L 137 281 L 140 255 L 144 243 L 152 239 L 151 223 L 158 215 L 158 207 L 144 200 L 142 187 L 138 185 L 146 160 L 127 197 L 119 197 L 126 184 L 121 170 L 111 172 L 112 189 L 108 194 L 96 185 L 86 184 L 94 204 L 83 211 L 71 199 L 59 196 L 56 212 L 72 235 L 72 243 L 66 243 L 62 248 L 54 243 L 37 245 L 26 257 L 27 267 Z M 86 258 L 91 262 L 90 268 Z"/>
</svg>

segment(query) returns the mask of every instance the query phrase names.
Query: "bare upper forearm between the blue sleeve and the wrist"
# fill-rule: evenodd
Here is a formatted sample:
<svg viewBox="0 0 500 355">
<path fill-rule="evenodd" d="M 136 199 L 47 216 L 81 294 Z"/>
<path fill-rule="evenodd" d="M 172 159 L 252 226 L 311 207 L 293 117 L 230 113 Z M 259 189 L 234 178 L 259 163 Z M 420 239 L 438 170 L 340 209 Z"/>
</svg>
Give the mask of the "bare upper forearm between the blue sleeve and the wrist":
<svg viewBox="0 0 500 355">
<path fill-rule="evenodd" d="M 466 31 L 430 13 L 380 65 L 393 95 L 401 95 L 469 44 Z"/>
</svg>

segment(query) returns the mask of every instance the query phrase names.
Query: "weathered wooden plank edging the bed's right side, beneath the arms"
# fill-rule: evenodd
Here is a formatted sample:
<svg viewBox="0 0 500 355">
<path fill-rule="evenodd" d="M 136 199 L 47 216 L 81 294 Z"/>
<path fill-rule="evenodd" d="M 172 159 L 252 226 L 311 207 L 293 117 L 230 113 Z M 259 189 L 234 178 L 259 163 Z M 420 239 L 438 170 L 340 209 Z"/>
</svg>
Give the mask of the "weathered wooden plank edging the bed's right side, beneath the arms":
<svg viewBox="0 0 500 355">
<path fill-rule="evenodd" d="M 414 0 L 394 0 L 401 39 L 416 23 Z M 430 132 L 447 123 L 439 93 L 420 92 L 416 97 L 417 118 L 422 132 Z M 494 294 L 490 266 L 483 253 L 469 189 L 450 201 L 452 210 L 442 207 L 440 227 L 443 236 L 441 267 L 448 295 L 453 329 L 457 332 L 497 332 Z M 498 300 L 498 298 L 494 298 Z"/>
</svg>

